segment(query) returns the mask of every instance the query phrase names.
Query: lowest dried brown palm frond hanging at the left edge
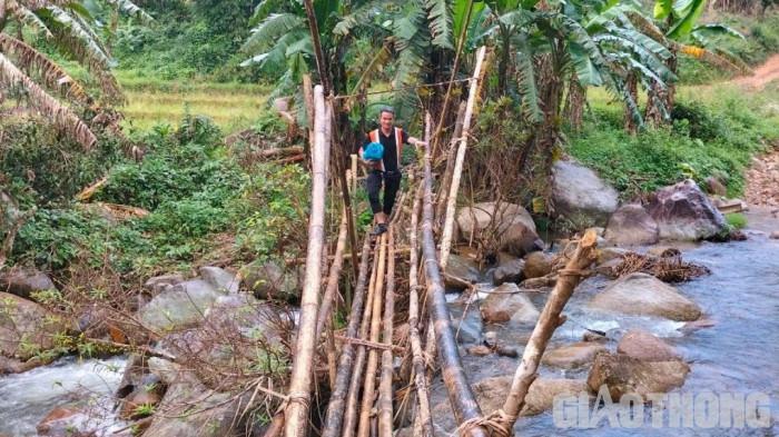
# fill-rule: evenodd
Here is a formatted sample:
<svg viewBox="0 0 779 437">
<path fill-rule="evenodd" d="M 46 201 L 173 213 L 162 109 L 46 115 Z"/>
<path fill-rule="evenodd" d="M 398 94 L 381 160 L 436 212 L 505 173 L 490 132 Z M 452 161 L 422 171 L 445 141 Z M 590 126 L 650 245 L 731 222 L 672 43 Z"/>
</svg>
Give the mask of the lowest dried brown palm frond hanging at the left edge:
<svg viewBox="0 0 779 437">
<path fill-rule="evenodd" d="M 29 93 L 29 102 L 33 108 L 51 118 L 57 127 L 65 130 L 85 148 L 91 148 L 97 142 L 95 133 L 70 108 L 40 88 L 3 53 L 0 53 L 0 83 L 21 86 Z"/>
</svg>

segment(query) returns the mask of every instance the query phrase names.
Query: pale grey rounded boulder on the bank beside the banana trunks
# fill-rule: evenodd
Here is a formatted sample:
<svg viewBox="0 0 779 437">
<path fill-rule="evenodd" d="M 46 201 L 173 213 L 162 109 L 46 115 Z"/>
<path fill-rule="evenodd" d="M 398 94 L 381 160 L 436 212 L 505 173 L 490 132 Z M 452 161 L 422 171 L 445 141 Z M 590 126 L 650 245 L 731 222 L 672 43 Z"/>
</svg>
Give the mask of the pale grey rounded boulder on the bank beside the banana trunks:
<svg viewBox="0 0 779 437">
<path fill-rule="evenodd" d="M 605 226 L 619 202 L 617 190 L 591 169 L 559 160 L 552 167 L 554 213 L 575 229 Z"/>
</svg>

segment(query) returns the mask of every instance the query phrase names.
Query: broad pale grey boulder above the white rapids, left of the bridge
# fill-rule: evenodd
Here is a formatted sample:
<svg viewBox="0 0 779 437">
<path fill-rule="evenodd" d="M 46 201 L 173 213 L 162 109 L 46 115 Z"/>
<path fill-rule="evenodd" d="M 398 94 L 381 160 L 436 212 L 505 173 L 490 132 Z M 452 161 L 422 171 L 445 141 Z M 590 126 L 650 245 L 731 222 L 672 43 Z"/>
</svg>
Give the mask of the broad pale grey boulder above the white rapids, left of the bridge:
<svg viewBox="0 0 779 437">
<path fill-rule="evenodd" d="M 164 334 L 197 326 L 203 315 L 224 290 L 203 279 L 193 279 L 167 287 L 139 312 L 140 320 L 152 331 Z"/>
</svg>

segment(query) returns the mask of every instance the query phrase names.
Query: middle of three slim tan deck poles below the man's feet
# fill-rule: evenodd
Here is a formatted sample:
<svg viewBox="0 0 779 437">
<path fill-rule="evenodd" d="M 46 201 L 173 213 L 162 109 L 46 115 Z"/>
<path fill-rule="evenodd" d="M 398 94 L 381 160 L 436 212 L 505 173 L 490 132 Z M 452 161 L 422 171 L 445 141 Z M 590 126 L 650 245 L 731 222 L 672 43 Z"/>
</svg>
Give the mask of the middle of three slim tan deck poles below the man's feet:
<svg viewBox="0 0 779 437">
<path fill-rule="evenodd" d="M 378 268 L 376 272 L 376 288 L 373 296 L 373 314 L 371 315 L 371 341 L 378 342 L 382 326 L 382 290 L 384 289 L 384 272 L 386 271 L 387 235 L 382 234 L 378 249 Z M 378 367 L 378 354 L 376 349 L 368 350 L 368 364 L 365 370 L 365 385 L 363 387 L 363 403 L 359 413 L 357 437 L 367 437 L 371 433 L 371 409 L 376 393 L 376 368 Z"/>
</svg>

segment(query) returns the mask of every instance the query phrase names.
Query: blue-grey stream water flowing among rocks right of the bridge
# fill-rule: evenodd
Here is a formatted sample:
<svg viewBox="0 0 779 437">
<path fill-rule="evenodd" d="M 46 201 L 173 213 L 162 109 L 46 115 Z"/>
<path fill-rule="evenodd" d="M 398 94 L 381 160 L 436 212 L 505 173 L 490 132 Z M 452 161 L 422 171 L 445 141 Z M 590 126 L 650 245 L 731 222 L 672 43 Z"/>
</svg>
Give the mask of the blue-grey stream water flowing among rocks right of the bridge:
<svg viewBox="0 0 779 437">
<path fill-rule="evenodd" d="M 607 337 L 611 339 L 607 346 L 614 350 L 615 339 L 625 330 L 649 330 L 676 347 L 690 364 L 691 373 L 684 385 L 670 394 L 680 401 L 684 401 L 687 396 L 688 400 L 692 398 L 691 404 L 701 403 L 704 407 L 702 418 L 696 417 L 696 413 L 671 418 L 668 410 L 654 413 L 652 417 L 651 409 L 647 407 L 643 421 L 632 425 L 638 427 L 625 428 L 625 425 L 630 425 L 629 420 L 610 423 L 603 409 L 600 409 L 601 416 L 594 416 L 593 410 L 599 409 L 591 404 L 586 415 L 582 411 L 569 411 L 568 416 L 589 417 L 589 427 L 585 426 L 585 421 L 569 421 L 568 424 L 573 426 L 559 427 L 552 411 L 548 411 L 539 416 L 521 417 L 514 428 L 516 435 L 779 436 L 779 240 L 769 239 L 766 232 L 758 230 L 779 229 L 779 220 L 765 213 L 750 213 L 749 218 L 753 225 L 750 225 L 752 230 L 748 231 L 747 241 L 704 242 L 683 250 L 686 260 L 711 269 L 711 275 L 679 284 L 677 287 L 703 309 L 703 317 L 714 322 L 712 327 L 686 330 L 682 329 L 683 322 L 589 310 L 585 307 L 586 302 L 609 284 L 608 279 L 593 277 L 582 282 L 574 292 L 564 310 L 568 320 L 558 328 L 550 344 L 550 347 L 555 347 L 580 341 L 585 328 L 590 328 L 607 331 Z M 546 296 L 546 292 L 529 294 L 538 308 L 543 307 Z M 452 306 L 456 307 L 455 304 Z M 462 309 L 458 314 L 462 314 Z M 453 319 L 456 325 L 458 318 L 453 316 Z M 484 330 L 496 330 L 501 342 L 515 345 L 521 352 L 531 328 L 485 327 Z M 472 383 L 493 376 L 513 375 L 517 362 L 517 358 L 495 355 L 463 355 L 463 364 Z M 589 367 L 561 370 L 543 365 L 539 370 L 542 377 L 582 379 L 586 378 L 588 371 Z M 716 404 L 703 404 L 709 396 L 707 393 L 714 394 Z M 722 407 L 729 394 L 737 400 L 739 394 L 743 394 L 745 397 L 751 394 L 753 399 L 762 399 L 758 400 L 758 407 L 762 407 L 763 417 L 769 409 L 772 418 L 763 419 L 760 428 L 750 428 L 748 421 L 742 428 L 728 426 L 724 415 L 711 411 L 717 405 Z M 445 401 L 445 390 L 440 379 L 434 386 L 433 401 Z M 698 408 L 698 404 L 694 405 L 694 408 Z M 706 409 L 712 408 L 712 405 L 714 407 L 711 411 Z M 755 404 L 751 405 L 755 407 Z M 593 420 L 593 417 L 600 417 L 601 420 Z M 652 423 L 652 419 L 658 421 Z M 723 424 L 726 426 L 722 426 Z M 445 431 L 451 433 L 452 429 Z"/>
</svg>

